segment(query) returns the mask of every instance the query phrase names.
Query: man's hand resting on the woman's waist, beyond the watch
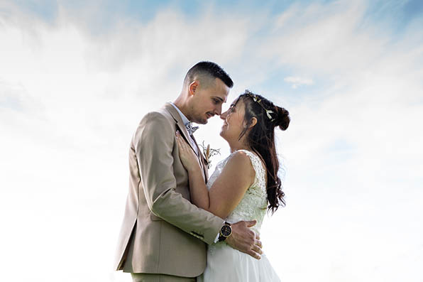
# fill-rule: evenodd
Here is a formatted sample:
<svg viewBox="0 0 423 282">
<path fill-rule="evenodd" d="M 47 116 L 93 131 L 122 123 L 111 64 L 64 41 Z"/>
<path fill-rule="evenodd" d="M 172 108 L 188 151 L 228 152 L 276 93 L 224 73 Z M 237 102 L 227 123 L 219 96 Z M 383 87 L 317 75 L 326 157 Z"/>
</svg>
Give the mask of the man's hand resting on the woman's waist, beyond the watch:
<svg viewBox="0 0 423 282">
<path fill-rule="evenodd" d="M 234 249 L 249 254 L 253 258 L 260 259 L 260 254 L 263 254 L 260 237 L 250 229 L 256 223 L 256 220 L 251 220 L 249 222 L 241 221 L 231 224 L 232 234 L 225 241 Z"/>
</svg>

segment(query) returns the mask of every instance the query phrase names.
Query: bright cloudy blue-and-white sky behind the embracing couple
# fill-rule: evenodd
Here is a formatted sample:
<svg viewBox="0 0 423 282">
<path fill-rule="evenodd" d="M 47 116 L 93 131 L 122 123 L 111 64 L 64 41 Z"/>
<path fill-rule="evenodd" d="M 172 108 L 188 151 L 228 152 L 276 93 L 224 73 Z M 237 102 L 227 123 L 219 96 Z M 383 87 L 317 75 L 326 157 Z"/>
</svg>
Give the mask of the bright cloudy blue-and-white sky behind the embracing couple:
<svg viewBox="0 0 423 282">
<path fill-rule="evenodd" d="M 113 270 L 144 114 L 212 60 L 290 112 L 282 281 L 422 281 L 423 2 L 0 1 L 1 281 Z M 229 153 L 210 119 L 197 141 Z M 210 172 L 212 172 L 213 168 Z"/>
</svg>

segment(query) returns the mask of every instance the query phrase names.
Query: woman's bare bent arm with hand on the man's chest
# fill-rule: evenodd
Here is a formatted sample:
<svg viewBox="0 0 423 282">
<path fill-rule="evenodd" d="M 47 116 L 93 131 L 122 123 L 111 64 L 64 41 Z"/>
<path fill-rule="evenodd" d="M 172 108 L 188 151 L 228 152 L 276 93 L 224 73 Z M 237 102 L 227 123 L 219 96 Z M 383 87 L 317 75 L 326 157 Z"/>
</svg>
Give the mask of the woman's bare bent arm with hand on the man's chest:
<svg viewBox="0 0 423 282">
<path fill-rule="evenodd" d="M 197 207 L 212 212 L 218 217 L 226 218 L 254 181 L 256 172 L 251 165 L 250 158 L 243 152 L 234 153 L 209 191 L 202 178 L 197 156 L 194 155 L 182 136 L 177 136 L 177 141 L 182 164 L 189 175 L 192 202 Z"/>
</svg>

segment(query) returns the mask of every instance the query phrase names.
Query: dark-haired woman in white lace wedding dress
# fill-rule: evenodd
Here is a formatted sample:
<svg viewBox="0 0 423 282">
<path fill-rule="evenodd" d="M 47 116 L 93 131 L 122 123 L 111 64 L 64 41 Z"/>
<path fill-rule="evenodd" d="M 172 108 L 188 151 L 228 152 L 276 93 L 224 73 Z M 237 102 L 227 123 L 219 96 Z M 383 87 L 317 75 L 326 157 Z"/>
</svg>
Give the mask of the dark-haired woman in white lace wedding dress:
<svg viewBox="0 0 423 282">
<path fill-rule="evenodd" d="M 192 149 L 177 135 L 180 157 L 189 173 L 194 205 L 226 222 L 257 220 L 251 229 L 260 232 L 266 210 L 275 212 L 285 205 L 279 161 L 275 150 L 275 127 L 287 129 L 287 110 L 246 90 L 221 114 L 220 135 L 229 143 L 231 155 L 217 164 L 204 184 L 201 168 Z M 207 267 L 198 281 L 280 281 L 263 254 L 254 259 L 226 244 L 224 237 L 207 250 Z"/>
</svg>

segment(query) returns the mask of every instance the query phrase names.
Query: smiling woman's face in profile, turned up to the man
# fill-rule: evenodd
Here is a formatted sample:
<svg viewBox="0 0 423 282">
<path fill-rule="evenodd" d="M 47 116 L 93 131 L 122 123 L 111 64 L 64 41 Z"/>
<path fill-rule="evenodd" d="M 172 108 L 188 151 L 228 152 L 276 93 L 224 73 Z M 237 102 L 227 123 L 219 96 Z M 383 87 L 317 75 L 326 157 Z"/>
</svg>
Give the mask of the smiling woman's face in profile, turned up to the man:
<svg viewBox="0 0 423 282">
<path fill-rule="evenodd" d="M 245 104 L 242 100 L 236 100 L 232 102 L 231 107 L 220 115 L 220 118 L 224 120 L 224 124 L 221 127 L 220 136 L 226 141 L 238 141 L 239 135 L 244 129 L 244 114 Z"/>
</svg>

